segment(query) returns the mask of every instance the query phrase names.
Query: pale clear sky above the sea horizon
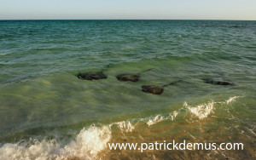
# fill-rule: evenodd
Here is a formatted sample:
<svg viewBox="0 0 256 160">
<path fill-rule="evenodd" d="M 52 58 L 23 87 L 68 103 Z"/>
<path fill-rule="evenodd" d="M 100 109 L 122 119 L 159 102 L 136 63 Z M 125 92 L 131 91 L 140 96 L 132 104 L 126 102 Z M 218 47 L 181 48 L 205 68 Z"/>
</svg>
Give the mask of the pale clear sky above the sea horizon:
<svg viewBox="0 0 256 160">
<path fill-rule="evenodd" d="M 256 0 L 0 0 L 0 20 L 256 20 Z"/>
</svg>

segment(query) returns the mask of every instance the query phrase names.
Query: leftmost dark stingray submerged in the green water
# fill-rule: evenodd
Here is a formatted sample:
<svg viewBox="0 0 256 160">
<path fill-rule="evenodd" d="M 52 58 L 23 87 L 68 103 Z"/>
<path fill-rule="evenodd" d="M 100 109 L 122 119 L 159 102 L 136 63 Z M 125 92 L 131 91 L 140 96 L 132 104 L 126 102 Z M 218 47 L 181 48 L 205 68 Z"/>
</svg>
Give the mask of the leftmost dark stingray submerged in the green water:
<svg viewBox="0 0 256 160">
<path fill-rule="evenodd" d="M 110 65 L 106 66 L 107 70 L 109 68 Z M 103 69 L 104 70 L 104 69 Z M 97 71 L 97 72 L 84 72 L 84 73 L 80 73 L 77 74 L 77 77 L 79 79 L 83 79 L 83 80 L 99 80 L 99 79 L 107 79 L 108 76 L 105 75 L 102 71 Z"/>
</svg>

